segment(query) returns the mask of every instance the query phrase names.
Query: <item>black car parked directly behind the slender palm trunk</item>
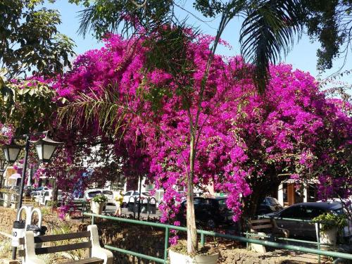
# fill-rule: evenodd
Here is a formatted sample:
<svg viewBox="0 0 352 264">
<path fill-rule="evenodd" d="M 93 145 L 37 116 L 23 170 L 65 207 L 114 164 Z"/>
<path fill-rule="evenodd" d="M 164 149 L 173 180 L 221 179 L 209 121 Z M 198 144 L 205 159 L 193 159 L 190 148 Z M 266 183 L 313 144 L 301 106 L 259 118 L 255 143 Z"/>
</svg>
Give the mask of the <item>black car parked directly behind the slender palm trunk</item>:
<svg viewBox="0 0 352 264">
<path fill-rule="evenodd" d="M 181 225 L 186 225 L 186 208 L 187 202 L 183 201 L 177 214 Z M 232 211 L 227 208 L 225 197 L 194 197 L 194 213 L 198 225 L 213 228 L 232 223 Z"/>
</svg>

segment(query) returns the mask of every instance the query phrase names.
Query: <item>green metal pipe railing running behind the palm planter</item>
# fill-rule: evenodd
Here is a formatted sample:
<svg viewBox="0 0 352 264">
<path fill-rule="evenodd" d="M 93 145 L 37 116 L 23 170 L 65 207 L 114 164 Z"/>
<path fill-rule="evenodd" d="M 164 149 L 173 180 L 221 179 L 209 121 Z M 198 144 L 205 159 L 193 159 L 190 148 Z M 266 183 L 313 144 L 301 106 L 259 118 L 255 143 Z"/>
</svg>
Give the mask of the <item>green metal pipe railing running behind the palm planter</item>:
<svg viewBox="0 0 352 264">
<path fill-rule="evenodd" d="M 132 220 L 132 219 L 126 219 L 126 218 L 115 218 L 113 216 L 108 216 L 108 215 L 96 215 L 94 213 L 84 213 L 84 215 L 90 216 L 92 218 L 92 225 L 94 225 L 94 220 L 95 218 L 103 218 L 107 220 L 113 220 L 117 222 L 127 222 L 130 224 L 134 225 L 146 225 L 150 227 L 159 227 L 165 230 L 165 248 L 164 248 L 164 258 L 156 258 L 153 256 L 148 256 L 144 255 L 142 253 L 137 253 L 134 251 L 128 251 L 126 249 L 120 249 L 115 246 L 108 246 L 106 245 L 106 249 L 110 249 L 112 251 L 118 251 L 120 253 L 124 253 L 130 256 L 136 256 L 138 258 L 145 258 L 147 260 L 155 261 L 156 263 L 167 263 L 168 260 L 168 240 L 169 240 L 169 232 L 170 230 L 177 230 L 177 231 L 182 231 L 182 232 L 187 232 L 186 227 L 178 227 L 175 225 L 165 225 L 161 224 L 158 222 L 146 222 L 146 221 L 139 221 L 139 220 Z M 303 253 L 313 253 L 315 255 L 322 255 L 322 256 L 328 256 L 332 258 L 344 258 L 348 260 L 352 260 L 352 254 L 348 253 L 341 253 L 341 252 L 335 252 L 335 251 L 322 251 L 320 249 L 310 249 L 307 247 L 303 246 L 293 246 L 293 245 L 288 245 L 288 244 L 280 244 L 277 242 L 273 241 L 265 241 L 263 239 L 251 239 L 247 237 L 238 237 L 238 236 L 233 236 L 230 234 L 220 234 L 218 232 L 211 232 L 211 231 L 206 231 L 206 230 L 197 230 L 198 234 L 201 234 L 201 246 L 204 246 L 205 241 L 206 241 L 206 236 L 209 237 L 220 237 L 224 239 L 230 239 L 234 241 L 240 241 L 244 243 L 252 243 L 252 244 L 259 244 L 263 246 L 270 246 L 272 248 L 276 249 L 288 249 L 291 251 L 298 251 L 298 252 L 303 252 Z"/>
</svg>

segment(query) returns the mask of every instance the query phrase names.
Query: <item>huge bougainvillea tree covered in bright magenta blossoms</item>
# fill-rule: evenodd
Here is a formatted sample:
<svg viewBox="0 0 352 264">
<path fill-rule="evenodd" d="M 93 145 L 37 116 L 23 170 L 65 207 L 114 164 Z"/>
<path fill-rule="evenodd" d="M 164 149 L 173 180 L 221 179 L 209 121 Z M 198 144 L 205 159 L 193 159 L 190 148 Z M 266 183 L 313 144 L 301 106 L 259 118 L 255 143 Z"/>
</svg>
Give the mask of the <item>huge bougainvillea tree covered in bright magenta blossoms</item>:
<svg viewBox="0 0 352 264">
<path fill-rule="evenodd" d="M 260 95 L 241 58 L 215 56 L 207 73 L 212 37 L 185 37 L 182 47 L 160 40 L 155 48 L 143 37 L 111 35 L 55 88 L 70 101 L 61 122 L 96 126 L 123 165 L 165 189 L 162 220 L 175 216 L 182 199 L 175 186 L 189 190 L 190 179 L 225 191 L 234 220 L 289 177 L 318 180 L 321 195 L 351 194 L 348 103 L 325 99 L 313 77 L 289 65 L 270 68 Z"/>
</svg>

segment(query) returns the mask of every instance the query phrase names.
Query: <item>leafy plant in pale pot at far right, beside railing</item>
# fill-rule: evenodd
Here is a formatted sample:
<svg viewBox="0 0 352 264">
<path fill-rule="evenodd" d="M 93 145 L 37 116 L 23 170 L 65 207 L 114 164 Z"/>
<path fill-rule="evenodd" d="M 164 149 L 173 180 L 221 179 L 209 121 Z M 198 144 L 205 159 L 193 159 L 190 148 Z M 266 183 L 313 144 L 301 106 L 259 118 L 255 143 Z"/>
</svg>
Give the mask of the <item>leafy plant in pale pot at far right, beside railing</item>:
<svg viewBox="0 0 352 264">
<path fill-rule="evenodd" d="M 318 237 L 318 225 L 320 225 L 320 243 L 336 245 L 337 232 L 347 225 L 346 215 L 323 213 L 313 218 Z"/>
</svg>

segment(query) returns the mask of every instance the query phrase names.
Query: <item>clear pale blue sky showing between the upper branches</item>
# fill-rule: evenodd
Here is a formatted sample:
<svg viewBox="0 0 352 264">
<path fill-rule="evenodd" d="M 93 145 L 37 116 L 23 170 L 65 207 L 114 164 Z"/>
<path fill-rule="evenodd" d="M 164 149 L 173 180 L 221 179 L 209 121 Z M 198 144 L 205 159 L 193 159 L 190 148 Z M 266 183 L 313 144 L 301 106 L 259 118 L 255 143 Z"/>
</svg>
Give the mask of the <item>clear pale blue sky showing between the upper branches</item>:
<svg viewBox="0 0 352 264">
<path fill-rule="evenodd" d="M 192 11 L 192 13 L 182 11 L 180 8 L 176 10 L 176 13 L 179 16 L 180 20 L 187 18 L 187 23 L 199 27 L 199 29 L 203 33 L 215 35 L 219 19 L 210 20 L 207 18 L 203 18 L 200 13 L 197 13 L 196 11 L 194 11 L 194 8 L 191 7 L 192 2 L 193 1 L 184 1 L 184 3 L 186 3 L 185 9 Z M 87 51 L 89 49 L 97 49 L 103 45 L 97 42 L 91 34 L 87 34 L 85 38 L 77 34 L 77 29 L 80 25 L 79 18 L 77 18 L 77 12 L 82 10 L 82 7 L 75 6 L 73 4 L 68 4 L 67 0 L 58 0 L 55 4 L 46 4 L 46 7 L 55 8 L 60 11 L 62 24 L 59 26 L 59 30 L 61 33 L 68 35 L 76 42 L 77 47 L 75 48 L 75 52 L 77 54 L 82 54 L 84 51 Z M 198 18 L 201 18 L 202 20 L 207 20 L 208 23 L 202 23 L 201 21 L 197 20 L 194 15 Z M 229 50 L 224 46 L 220 46 L 217 51 L 218 54 L 226 56 L 233 56 L 239 54 L 240 27 L 241 21 L 237 18 L 234 18 L 234 20 L 232 20 L 230 24 L 227 25 L 225 32 L 222 34 L 222 39 L 229 42 L 232 46 L 232 49 Z M 316 70 L 316 51 L 318 48 L 318 42 L 310 42 L 310 39 L 303 35 L 300 41 L 298 43 L 296 42 L 289 55 L 286 58 L 282 58 L 282 61 L 291 64 L 294 69 L 298 68 L 300 70 L 309 72 L 314 77 L 319 77 L 318 70 Z M 349 54 L 347 58 L 347 63 L 342 69 L 342 71 L 351 69 L 351 61 L 352 56 L 351 54 Z M 320 76 L 324 78 L 328 77 L 332 73 L 335 73 L 337 70 L 339 70 L 339 68 L 341 68 L 343 62 L 344 60 L 342 58 L 335 60 L 334 67 L 331 70 L 328 70 L 326 73 L 322 73 Z M 342 77 L 341 81 L 352 84 L 352 76 L 350 75 L 347 77 Z M 352 94 L 351 89 L 349 90 L 349 94 Z"/>
</svg>

